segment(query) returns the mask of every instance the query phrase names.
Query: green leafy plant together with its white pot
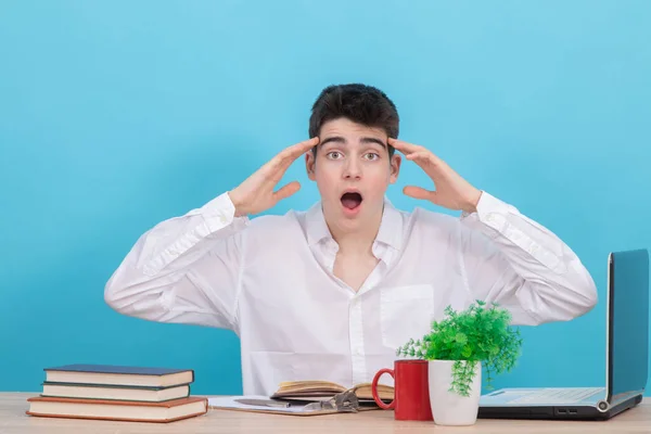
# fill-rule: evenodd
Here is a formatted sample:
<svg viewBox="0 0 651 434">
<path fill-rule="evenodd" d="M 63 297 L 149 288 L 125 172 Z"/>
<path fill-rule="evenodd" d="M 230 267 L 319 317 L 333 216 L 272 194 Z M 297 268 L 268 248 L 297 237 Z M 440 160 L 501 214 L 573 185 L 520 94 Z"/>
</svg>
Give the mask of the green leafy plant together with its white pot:
<svg viewBox="0 0 651 434">
<path fill-rule="evenodd" d="M 520 357 L 522 339 L 510 322 L 510 312 L 496 304 L 476 301 L 462 311 L 448 306 L 427 334 L 397 349 L 398 356 L 429 360 L 430 404 L 436 424 L 476 422 L 482 367 L 489 388 L 493 375 L 510 371 Z"/>
</svg>

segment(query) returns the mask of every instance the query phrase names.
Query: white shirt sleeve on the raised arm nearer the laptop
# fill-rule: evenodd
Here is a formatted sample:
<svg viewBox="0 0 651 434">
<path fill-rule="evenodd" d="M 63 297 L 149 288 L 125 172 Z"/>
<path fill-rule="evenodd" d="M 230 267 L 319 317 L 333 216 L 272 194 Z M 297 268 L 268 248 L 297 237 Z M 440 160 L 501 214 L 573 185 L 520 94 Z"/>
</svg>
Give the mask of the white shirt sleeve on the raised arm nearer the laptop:
<svg viewBox="0 0 651 434">
<path fill-rule="evenodd" d="M 595 282 L 574 252 L 515 207 L 482 192 L 461 221 L 471 229 L 461 248 L 468 290 L 508 308 L 514 324 L 566 321 L 596 305 Z"/>
</svg>

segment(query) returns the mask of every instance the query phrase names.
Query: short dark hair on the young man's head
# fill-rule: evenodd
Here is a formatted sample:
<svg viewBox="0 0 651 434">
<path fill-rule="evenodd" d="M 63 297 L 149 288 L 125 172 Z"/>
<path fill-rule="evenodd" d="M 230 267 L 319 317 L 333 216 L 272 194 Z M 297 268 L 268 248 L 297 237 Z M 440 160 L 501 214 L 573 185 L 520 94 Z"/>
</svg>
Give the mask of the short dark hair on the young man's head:
<svg viewBox="0 0 651 434">
<path fill-rule="evenodd" d="M 319 136 L 324 123 L 339 118 L 382 128 L 388 137 L 398 138 L 400 118 L 396 105 L 383 91 L 372 86 L 349 84 L 323 89 L 311 108 L 309 138 Z M 393 155 L 395 149 L 388 145 L 388 154 Z"/>
</svg>

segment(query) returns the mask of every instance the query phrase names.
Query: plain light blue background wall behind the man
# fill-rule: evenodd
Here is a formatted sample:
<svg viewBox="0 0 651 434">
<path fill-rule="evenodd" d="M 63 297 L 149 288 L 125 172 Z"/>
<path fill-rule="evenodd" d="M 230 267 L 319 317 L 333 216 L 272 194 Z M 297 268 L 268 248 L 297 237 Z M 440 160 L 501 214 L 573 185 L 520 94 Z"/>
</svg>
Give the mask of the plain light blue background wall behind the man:
<svg viewBox="0 0 651 434">
<path fill-rule="evenodd" d="M 597 282 L 587 316 L 523 329 L 495 385 L 602 385 L 607 254 L 651 247 L 650 22 L 648 1 L 2 2 L 0 390 L 99 362 L 240 393 L 233 333 L 119 316 L 104 283 L 151 226 L 305 139 L 318 92 L 350 81 L 385 90 L 403 139 L 550 228 Z M 301 162 L 292 179 L 270 213 L 317 200 Z M 430 184 L 404 166 L 388 196 L 411 209 L 408 183 Z"/>
</svg>

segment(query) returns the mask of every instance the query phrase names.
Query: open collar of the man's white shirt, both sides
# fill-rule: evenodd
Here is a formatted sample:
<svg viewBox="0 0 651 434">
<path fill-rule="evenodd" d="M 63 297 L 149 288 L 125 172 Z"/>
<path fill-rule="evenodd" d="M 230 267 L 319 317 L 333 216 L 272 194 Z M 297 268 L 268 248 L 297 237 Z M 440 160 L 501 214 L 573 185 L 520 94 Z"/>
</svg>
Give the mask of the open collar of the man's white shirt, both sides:
<svg viewBox="0 0 651 434">
<path fill-rule="evenodd" d="M 318 244 L 324 239 L 332 239 L 321 202 L 312 205 L 306 214 L 306 233 L 309 245 Z M 403 243 L 403 216 L 400 212 L 394 207 L 388 199 L 384 199 L 384 212 L 382 213 L 382 221 L 375 241 L 384 243 L 392 248 L 400 250 Z"/>
</svg>

